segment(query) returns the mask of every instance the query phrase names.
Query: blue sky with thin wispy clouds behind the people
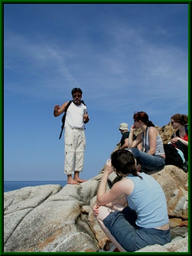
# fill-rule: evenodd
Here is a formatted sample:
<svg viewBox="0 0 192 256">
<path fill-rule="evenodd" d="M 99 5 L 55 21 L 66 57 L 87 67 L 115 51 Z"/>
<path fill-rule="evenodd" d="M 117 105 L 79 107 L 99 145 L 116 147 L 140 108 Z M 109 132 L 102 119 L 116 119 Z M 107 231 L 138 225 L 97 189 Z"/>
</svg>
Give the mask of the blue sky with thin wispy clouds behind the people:
<svg viewBox="0 0 192 256">
<path fill-rule="evenodd" d="M 4 4 L 4 180 L 67 180 L 53 109 L 74 87 L 91 179 L 135 111 L 188 115 L 188 4 Z"/>
</svg>

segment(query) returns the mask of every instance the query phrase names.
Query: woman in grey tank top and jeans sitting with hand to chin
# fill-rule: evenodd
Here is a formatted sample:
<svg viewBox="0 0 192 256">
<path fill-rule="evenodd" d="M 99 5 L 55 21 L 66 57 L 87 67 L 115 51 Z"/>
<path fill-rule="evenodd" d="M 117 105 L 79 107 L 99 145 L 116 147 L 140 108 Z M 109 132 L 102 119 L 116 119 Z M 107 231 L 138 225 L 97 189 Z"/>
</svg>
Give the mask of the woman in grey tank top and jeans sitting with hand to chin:
<svg viewBox="0 0 192 256">
<path fill-rule="evenodd" d="M 134 125 L 131 126 L 128 147 L 136 158 L 138 170 L 143 172 L 159 171 L 164 168 L 165 154 L 163 141 L 155 125 L 148 120 L 147 113 L 140 111 L 134 113 Z M 132 140 L 135 129 L 141 129 L 136 139 Z M 135 148 L 142 143 L 143 149 Z"/>
</svg>

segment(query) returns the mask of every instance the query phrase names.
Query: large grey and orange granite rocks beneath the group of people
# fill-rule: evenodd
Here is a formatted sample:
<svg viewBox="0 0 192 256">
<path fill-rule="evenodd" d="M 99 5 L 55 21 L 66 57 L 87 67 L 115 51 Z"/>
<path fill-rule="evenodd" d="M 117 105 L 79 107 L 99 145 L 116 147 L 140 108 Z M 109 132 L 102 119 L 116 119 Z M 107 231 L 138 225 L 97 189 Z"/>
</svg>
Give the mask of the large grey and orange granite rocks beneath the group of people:
<svg viewBox="0 0 192 256">
<path fill-rule="evenodd" d="M 138 252 L 188 252 L 188 173 L 169 165 L 149 175 L 166 195 L 172 242 Z M 101 177 L 4 193 L 4 252 L 108 252 L 111 242 L 92 212 Z M 116 179 L 111 173 L 108 189 Z"/>
</svg>

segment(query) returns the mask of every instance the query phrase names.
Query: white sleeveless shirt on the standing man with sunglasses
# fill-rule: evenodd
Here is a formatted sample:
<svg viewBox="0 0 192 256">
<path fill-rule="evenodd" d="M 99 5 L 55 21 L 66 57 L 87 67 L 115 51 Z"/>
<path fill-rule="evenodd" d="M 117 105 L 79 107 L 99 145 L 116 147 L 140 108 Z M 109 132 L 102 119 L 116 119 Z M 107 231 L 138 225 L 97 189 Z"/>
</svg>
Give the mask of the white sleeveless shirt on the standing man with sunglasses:
<svg viewBox="0 0 192 256">
<path fill-rule="evenodd" d="M 84 104 L 82 103 L 79 106 L 74 104 L 74 102 L 70 104 L 66 113 L 65 127 L 84 128 L 83 106 Z"/>
</svg>

